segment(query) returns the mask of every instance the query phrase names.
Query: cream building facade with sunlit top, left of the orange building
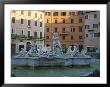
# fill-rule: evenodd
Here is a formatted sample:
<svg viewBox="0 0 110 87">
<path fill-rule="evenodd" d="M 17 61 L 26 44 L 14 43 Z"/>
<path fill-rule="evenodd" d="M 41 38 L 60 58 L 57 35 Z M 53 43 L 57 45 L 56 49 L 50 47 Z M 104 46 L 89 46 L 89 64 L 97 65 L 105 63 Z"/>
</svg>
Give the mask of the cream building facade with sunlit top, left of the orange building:
<svg viewBox="0 0 110 87">
<path fill-rule="evenodd" d="M 11 11 L 11 47 L 12 52 L 22 48 L 29 50 L 31 44 L 44 46 L 44 12 L 30 10 Z"/>
</svg>

